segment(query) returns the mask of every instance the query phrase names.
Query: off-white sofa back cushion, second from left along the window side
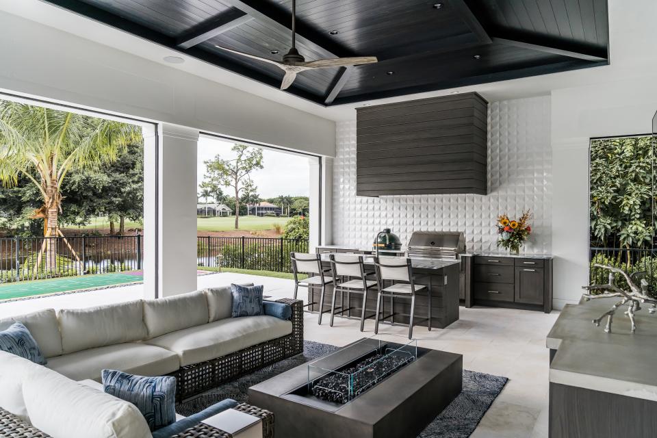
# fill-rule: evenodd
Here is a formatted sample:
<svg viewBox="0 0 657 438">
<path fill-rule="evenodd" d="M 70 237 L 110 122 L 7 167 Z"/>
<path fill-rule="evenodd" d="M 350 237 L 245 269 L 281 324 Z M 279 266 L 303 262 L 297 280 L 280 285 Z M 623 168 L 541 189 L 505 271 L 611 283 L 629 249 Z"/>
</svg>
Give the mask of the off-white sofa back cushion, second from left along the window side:
<svg viewBox="0 0 657 438">
<path fill-rule="evenodd" d="M 146 337 L 142 300 L 57 312 L 64 354 L 141 341 Z"/>
</svg>

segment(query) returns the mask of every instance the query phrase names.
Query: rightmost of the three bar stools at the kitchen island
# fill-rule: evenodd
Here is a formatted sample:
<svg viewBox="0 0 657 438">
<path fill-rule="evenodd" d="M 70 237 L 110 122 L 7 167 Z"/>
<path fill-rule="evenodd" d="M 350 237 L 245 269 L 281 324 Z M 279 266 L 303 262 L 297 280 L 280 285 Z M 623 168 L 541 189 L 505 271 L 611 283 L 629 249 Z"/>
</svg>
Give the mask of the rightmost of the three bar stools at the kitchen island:
<svg viewBox="0 0 657 438">
<path fill-rule="evenodd" d="M 411 315 L 409 319 L 409 339 L 413 338 L 413 314 L 415 313 L 415 294 L 418 291 L 427 289 L 424 285 L 415 285 L 413 281 L 413 268 L 411 259 L 401 257 L 376 257 L 374 259 L 374 269 L 376 270 L 376 283 L 378 285 L 378 296 L 376 297 L 376 319 L 374 320 L 374 334 L 378 334 L 379 320 L 391 318 L 391 324 L 394 325 L 394 299 L 404 298 L 411 300 Z M 402 283 L 393 283 L 393 285 L 384 287 L 384 281 L 401 281 Z M 431 277 L 429 277 L 429 288 L 427 289 L 428 297 L 428 329 L 431 331 Z M 379 309 L 381 300 L 386 296 L 390 297 L 390 314 L 379 318 Z"/>
</svg>

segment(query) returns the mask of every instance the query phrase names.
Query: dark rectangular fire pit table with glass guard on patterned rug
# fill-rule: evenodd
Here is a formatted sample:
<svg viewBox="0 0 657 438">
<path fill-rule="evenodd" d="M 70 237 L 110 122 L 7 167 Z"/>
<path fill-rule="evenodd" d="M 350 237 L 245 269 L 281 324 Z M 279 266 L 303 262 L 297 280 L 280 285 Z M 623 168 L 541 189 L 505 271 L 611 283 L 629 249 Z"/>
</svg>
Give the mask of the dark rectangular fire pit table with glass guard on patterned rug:
<svg viewBox="0 0 657 438">
<path fill-rule="evenodd" d="M 278 438 L 415 438 L 463 388 L 463 356 L 370 337 L 248 389 Z M 399 339 L 402 339 L 401 337 Z"/>
</svg>

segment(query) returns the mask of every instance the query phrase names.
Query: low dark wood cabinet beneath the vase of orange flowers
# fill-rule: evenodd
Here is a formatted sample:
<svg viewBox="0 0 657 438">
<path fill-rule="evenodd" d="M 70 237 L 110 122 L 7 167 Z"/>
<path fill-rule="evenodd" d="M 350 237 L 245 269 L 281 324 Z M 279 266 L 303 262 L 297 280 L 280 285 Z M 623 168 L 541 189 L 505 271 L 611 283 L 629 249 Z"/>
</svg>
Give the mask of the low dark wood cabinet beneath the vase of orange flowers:
<svg viewBox="0 0 657 438">
<path fill-rule="evenodd" d="M 473 305 L 550 313 L 552 259 L 476 256 L 471 294 Z"/>
</svg>

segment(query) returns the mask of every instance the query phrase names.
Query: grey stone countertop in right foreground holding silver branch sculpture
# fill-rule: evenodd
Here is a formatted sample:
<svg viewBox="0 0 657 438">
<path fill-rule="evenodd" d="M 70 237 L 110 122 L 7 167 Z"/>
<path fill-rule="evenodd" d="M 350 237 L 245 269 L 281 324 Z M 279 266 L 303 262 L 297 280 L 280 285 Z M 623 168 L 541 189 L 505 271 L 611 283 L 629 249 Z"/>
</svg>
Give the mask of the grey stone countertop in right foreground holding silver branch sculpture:
<svg viewBox="0 0 657 438">
<path fill-rule="evenodd" d="M 566 305 L 548 334 L 548 348 L 556 349 L 550 382 L 657 402 L 657 315 L 647 305 L 637 311 L 636 332 L 620 308 L 612 333 L 604 332 L 606 318 L 591 322 L 619 298 L 600 298 Z"/>
</svg>

